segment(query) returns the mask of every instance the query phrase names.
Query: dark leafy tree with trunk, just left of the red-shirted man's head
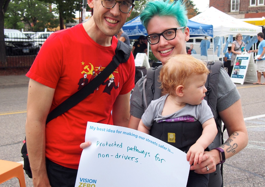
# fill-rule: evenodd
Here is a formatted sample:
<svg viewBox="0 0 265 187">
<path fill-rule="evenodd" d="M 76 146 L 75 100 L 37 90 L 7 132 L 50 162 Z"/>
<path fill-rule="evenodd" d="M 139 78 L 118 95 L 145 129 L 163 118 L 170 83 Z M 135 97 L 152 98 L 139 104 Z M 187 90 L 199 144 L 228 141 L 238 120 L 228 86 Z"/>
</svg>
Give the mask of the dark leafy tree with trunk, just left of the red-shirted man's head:
<svg viewBox="0 0 265 187">
<path fill-rule="evenodd" d="M 53 3 L 57 6 L 57 10 L 59 11 L 59 20 L 60 20 L 60 29 L 64 29 L 64 20 L 66 23 L 74 23 L 75 12 L 81 11 L 83 6 L 83 1 L 75 1 L 75 0 L 42 0 L 43 2 Z"/>
</svg>

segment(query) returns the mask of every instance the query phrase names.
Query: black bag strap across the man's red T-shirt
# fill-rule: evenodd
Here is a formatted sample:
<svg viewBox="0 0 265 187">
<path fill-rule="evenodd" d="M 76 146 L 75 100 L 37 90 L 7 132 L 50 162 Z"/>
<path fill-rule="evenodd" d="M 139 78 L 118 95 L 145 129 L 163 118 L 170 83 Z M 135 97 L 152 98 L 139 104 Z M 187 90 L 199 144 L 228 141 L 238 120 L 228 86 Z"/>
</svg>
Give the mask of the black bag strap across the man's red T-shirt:
<svg viewBox="0 0 265 187">
<path fill-rule="evenodd" d="M 94 90 L 98 86 L 100 86 L 102 82 L 104 82 L 109 77 L 109 75 L 112 74 L 113 71 L 115 71 L 120 63 L 124 63 L 129 59 L 130 54 L 130 47 L 118 40 L 115 55 L 109 65 L 81 90 L 77 91 L 75 94 L 73 94 L 56 108 L 54 108 L 53 111 L 48 114 L 46 124 L 49 123 L 52 119 L 68 111 L 79 102 L 83 101 L 89 94 L 93 93 Z"/>
</svg>

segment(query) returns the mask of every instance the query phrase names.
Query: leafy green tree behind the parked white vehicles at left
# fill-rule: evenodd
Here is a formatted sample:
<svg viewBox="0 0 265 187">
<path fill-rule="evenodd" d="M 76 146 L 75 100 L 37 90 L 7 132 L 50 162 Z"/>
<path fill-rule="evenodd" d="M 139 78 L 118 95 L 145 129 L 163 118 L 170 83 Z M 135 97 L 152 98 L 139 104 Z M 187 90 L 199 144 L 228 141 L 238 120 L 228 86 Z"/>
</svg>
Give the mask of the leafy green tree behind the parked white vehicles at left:
<svg viewBox="0 0 265 187">
<path fill-rule="evenodd" d="M 51 4 L 38 0 L 11 0 L 5 15 L 5 27 L 19 29 L 21 22 L 28 24 L 31 31 L 44 31 L 59 24 L 56 9 Z"/>
</svg>

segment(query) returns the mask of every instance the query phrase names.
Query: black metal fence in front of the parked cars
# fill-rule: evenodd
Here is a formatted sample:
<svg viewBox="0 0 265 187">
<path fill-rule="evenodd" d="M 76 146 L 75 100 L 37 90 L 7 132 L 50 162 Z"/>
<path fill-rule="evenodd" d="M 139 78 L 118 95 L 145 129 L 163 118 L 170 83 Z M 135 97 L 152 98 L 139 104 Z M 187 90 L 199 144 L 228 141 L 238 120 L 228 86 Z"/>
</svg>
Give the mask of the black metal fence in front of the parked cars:
<svg viewBox="0 0 265 187">
<path fill-rule="evenodd" d="M 46 38 L 31 38 L 18 30 L 4 31 L 5 37 L 0 38 L 4 44 L 4 50 L 0 51 L 0 68 L 31 67 Z"/>
</svg>

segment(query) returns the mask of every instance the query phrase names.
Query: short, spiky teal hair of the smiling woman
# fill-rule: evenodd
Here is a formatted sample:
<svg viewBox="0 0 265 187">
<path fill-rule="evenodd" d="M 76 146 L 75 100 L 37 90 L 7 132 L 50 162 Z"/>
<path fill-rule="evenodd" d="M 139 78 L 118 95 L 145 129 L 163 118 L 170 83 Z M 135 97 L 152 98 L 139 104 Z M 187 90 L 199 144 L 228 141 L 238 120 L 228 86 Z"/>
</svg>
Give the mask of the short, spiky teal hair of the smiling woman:
<svg viewBox="0 0 265 187">
<path fill-rule="evenodd" d="M 154 16 L 171 16 L 174 17 L 179 27 L 187 27 L 188 17 L 186 5 L 181 0 L 155 0 L 146 3 L 145 9 L 142 11 L 140 18 L 142 24 L 147 28 L 149 21 Z"/>
</svg>

